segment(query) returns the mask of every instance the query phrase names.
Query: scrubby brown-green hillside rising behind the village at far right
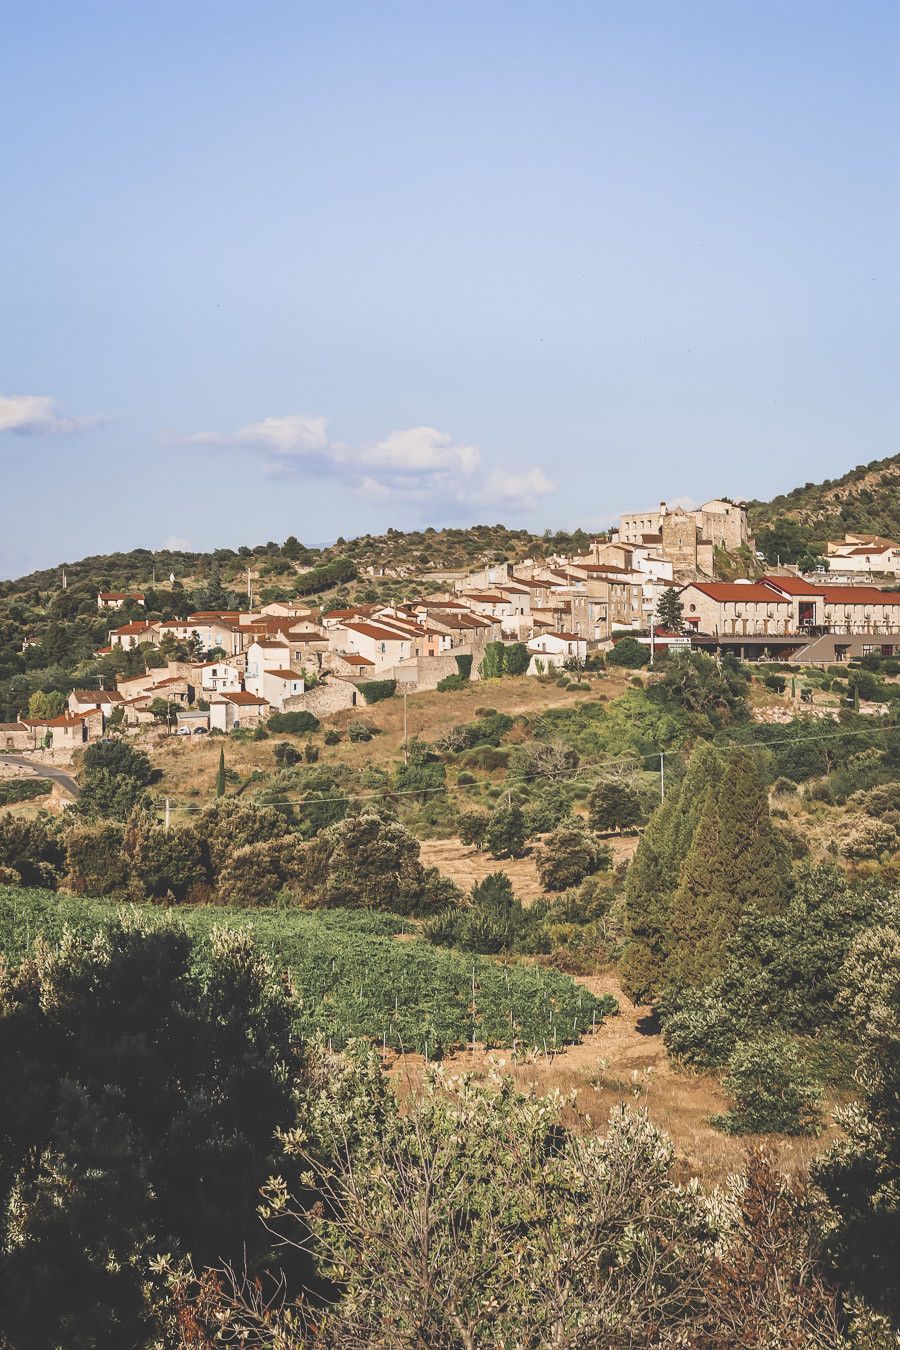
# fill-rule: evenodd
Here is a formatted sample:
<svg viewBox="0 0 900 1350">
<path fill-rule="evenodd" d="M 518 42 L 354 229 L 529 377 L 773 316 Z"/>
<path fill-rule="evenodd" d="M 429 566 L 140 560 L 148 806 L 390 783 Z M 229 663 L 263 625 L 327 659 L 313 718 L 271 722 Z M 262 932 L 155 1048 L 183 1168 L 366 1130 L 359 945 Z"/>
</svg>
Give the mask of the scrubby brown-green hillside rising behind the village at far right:
<svg viewBox="0 0 900 1350">
<path fill-rule="evenodd" d="M 847 532 L 900 537 L 900 455 L 858 464 L 842 478 L 804 483 L 769 502 L 748 504 L 757 544 L 772 560 L 815 556 Z"/>
</svg>

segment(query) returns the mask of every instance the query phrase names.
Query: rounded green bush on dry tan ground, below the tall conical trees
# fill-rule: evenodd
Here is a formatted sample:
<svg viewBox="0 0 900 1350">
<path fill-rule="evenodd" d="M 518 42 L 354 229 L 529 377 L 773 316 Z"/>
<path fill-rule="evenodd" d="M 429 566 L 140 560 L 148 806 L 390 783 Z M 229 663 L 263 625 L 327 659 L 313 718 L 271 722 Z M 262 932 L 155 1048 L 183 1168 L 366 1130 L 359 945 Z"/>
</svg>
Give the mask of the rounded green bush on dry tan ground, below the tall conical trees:
<svg viewBox="0 0 900 1350">
<path fill-rule="evenodd" d="M 712 1125 L 727 1134 L 815 1134 L 819 1089 L 796 1045 L 765 1035 L 737 1046 L 723 1087 L 734 1099 Z"/>
</svg>

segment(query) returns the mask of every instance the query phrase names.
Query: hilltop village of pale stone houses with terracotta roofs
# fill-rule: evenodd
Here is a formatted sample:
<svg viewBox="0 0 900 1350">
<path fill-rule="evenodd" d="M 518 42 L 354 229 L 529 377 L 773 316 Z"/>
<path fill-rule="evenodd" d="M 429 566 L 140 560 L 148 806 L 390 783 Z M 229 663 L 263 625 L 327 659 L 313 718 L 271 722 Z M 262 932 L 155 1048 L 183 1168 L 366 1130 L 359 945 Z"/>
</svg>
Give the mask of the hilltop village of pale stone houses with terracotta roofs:
<svg viewBox="0 0 900 1350">
<path fill-rule="evenodd" d="M 722 559 L 743 562 L 752 575 L 715 579 Z M 368 567 L 372 576 L 387 571 Z M 432 583 L 401 602 L 254 605 L 250 583 L 246 609 L 146 618 L 142 591 L 101 590 L 99 610 L 125 621 L 96 656 L 124 656 L 124 670 L 109 687 L 72 688 L 57 716 L 23 710 L 1 724 L 0 749 L 65 757 L 111 728 L 228 734 L 271 713 L 328 718 L 387 693 L 478 679 L 498 645 L 507 670 L 530 675 L 583 667 L 625 637 L 653 652 L 801 666 L 893 656 L 900 593 L 884 587 L 897 575 L 900 548 L 873 535 L 828 543 L 812 574 L 762 570 L 745 506 L 718 498 L 695 510 L 661 502 L 623 514 L 582 554 L 444 572 L 443 589 Z M 165 589 L 155 595 L 165 603 Z"/>
</svg>

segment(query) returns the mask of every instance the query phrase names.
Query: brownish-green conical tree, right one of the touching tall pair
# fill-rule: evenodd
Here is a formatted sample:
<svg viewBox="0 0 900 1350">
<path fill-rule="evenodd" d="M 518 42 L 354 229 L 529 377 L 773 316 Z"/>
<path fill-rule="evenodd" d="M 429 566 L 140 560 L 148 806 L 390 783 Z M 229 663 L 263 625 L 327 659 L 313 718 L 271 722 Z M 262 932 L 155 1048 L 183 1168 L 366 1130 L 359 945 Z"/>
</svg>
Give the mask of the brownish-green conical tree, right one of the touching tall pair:
<svg viewBox="0 0 900 1350">
<path fill-rule="evenodd" d="M 707 788 L 669 917 L 669 979 L 702 986 L 722 969 L 749 905 L 766 914 L 784 899 L 784 849 L 753 756 L 731 751 Z"/>
</svg>

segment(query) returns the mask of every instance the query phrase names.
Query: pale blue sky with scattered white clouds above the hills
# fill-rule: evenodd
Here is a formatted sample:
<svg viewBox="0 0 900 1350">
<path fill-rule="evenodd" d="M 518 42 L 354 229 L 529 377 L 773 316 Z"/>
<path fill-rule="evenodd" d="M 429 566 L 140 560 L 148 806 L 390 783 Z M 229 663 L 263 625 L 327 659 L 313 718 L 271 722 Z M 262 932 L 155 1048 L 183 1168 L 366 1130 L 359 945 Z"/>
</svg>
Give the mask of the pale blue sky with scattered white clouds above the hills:
<svg viewBox="0 0 900 1350">
<path fill-rule="evenodd" d="M 900 8 L 7 0 L 0 575 L 897 450 Z"/>
</svg>

